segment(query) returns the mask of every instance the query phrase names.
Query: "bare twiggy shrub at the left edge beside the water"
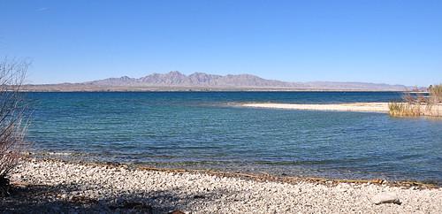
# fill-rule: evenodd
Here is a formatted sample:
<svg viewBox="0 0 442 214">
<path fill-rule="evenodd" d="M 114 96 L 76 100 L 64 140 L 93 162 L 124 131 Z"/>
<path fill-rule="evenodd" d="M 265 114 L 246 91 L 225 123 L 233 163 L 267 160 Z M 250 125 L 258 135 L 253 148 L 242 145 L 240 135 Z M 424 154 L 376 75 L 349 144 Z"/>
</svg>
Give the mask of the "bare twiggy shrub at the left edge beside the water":
<svg viewBox="0 0 442 214">
<path fill-rule="evenodd" d="M 7 175 L 18 164 L 25 148 L 26 103 L 21 87 L 28 63 L 0 59 L 0 195 L 9 195 Z"/>
</svg>

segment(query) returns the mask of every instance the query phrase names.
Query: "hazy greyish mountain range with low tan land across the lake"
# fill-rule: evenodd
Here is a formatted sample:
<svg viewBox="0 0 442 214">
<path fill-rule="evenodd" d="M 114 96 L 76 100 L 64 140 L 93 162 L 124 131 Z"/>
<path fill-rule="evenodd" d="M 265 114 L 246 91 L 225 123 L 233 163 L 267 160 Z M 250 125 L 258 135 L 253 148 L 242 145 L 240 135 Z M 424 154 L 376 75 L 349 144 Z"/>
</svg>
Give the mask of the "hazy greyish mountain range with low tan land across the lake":
<svg viewBox="0 0 442 214">
<path fill-rule="evenodd" d="M 410 87 L 366 82 L 288 82 L 266 80 L 251 74 L 215 75 L 179 72 L 153 73 L 141 78 L 123 76 L 83 83 L 28 85 L 29 90 L 367 90 L 405 91 Z"/>
</svg>

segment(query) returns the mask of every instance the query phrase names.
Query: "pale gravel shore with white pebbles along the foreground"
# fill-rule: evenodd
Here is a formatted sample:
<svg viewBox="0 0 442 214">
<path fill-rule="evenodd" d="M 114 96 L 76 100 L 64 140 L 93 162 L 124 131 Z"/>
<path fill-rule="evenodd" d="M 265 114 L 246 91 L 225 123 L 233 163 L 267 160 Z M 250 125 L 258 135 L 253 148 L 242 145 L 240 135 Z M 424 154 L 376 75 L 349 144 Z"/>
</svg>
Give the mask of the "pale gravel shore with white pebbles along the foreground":
<svg viewBox="0 0 442 214">
<path fill-rule="evenodd" d="M 0 198 L 0 212 L 442 213 L 438 187 L 257 181 L 125 165 L 32 159 L 11 183 L 16 190 Z"/>
</svg>

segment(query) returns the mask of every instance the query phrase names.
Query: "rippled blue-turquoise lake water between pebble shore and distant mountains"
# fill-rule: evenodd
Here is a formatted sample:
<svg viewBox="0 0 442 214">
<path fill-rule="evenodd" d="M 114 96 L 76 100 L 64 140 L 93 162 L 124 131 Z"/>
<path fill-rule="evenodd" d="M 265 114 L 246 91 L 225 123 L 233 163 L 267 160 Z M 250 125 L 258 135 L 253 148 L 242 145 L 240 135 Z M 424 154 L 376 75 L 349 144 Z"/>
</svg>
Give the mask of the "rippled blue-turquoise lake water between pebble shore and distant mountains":
<svg viewBox="0 0 442 214">
<path fill-rule="evenodd" d="M 36 152 L 157 167 L 442 183 L 442 120 L 238 103 L 388 102 L 400 93 L 29 93 Z"/>
</svg>

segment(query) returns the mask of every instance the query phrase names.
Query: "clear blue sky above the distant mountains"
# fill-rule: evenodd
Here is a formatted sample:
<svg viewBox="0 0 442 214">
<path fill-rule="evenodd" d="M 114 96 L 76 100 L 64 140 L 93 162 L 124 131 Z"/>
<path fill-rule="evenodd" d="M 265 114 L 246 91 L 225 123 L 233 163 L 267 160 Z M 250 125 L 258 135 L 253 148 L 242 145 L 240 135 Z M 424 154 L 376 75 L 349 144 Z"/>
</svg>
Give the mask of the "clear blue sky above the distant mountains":
<svg viewBox="0 0 442 214">
<path fill-rule="evenodd" d="M 442 82 L 442 1 L 0 0 L 0 56 L 30 83 L 149 73 Z"/>
</svg>

